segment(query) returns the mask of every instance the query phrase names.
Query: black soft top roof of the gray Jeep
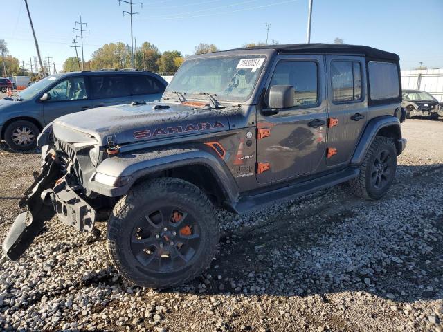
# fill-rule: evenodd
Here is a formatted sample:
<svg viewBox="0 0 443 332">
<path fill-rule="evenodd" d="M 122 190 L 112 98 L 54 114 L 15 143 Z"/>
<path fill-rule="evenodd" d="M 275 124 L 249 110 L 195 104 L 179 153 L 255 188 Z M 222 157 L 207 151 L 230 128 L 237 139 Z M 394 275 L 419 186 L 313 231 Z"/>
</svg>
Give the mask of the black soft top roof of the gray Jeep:
<svg viewBox="0 0 443 332">
<path fill-rule="evenodd" d="M 297 53 L 325 53 L 325 54 L 355 54 L 365 55 L 374 59 L 386 59 L 399 61 L 399 56 L 395 53 L 386 52 L 377 48 L 361 45 L 348 44 L 287 44 L 287 45 L 264 45 L 244 48 L 235 48 L 233 50 L 260 50 L 273 49 L 280 54 L 297 54 Z"/>
</svg>

